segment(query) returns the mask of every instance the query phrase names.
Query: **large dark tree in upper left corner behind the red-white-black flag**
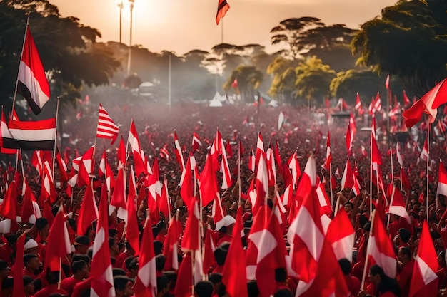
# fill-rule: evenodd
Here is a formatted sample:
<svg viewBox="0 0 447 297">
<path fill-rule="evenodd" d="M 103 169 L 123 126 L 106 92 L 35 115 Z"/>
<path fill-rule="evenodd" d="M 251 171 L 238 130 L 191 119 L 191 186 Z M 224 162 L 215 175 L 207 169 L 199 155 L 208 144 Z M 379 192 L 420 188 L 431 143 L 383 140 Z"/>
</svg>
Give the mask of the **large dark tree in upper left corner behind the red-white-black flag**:
<svg viewBox="0 0 447 297">
<path fill-rule="evenodd" d="M 80 97 L 82 86 L 104 85 L 119 62 L 107 46 L 96 43 L 101 33 L 84 26 L 74 17 L 62 18 L 47 0 L 0 1 L 0 98 L 14 94 L 26 14 L 44 68 L 49 75 L 52 97 L 61 95 L 72 103 Z"/>
</svg>

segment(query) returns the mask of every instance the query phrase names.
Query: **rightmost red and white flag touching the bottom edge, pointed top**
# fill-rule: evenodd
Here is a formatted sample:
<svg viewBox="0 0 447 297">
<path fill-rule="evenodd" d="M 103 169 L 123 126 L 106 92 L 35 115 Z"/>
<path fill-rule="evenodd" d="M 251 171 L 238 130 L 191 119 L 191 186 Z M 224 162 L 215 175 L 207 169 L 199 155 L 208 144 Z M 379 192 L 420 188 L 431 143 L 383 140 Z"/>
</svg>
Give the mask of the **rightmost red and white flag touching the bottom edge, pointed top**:
<svg viewBox="0 0 447 297">
<path fill-rule="evenodd" d="M 415 260 L 408 296 L 437 296 L 438 276 L 436 271 L 438 271 L 438 257 L 427 221 L 423 222 L 418 255 Z"/>
</svg>

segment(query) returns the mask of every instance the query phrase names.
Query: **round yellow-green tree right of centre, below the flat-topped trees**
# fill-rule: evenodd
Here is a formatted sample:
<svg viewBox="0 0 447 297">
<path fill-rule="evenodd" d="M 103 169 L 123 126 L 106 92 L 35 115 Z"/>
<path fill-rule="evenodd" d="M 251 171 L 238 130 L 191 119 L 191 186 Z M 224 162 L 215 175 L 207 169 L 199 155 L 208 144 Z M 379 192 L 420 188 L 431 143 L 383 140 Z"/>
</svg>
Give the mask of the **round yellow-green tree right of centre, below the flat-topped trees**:
<svg viewBox="0 0 447 297">
<path fill-rule="evenodd" d="M 296 98 L 305 98 L 308 103 L 318 103 L 319 98 L 322 103 L 323 98 L 330 94 L 329 86 L 336 77 L 336 72 L 330 66 L 324 65 L 321 59 L 313 56 L 299 63 L 295 71 Z"/>
</svg>

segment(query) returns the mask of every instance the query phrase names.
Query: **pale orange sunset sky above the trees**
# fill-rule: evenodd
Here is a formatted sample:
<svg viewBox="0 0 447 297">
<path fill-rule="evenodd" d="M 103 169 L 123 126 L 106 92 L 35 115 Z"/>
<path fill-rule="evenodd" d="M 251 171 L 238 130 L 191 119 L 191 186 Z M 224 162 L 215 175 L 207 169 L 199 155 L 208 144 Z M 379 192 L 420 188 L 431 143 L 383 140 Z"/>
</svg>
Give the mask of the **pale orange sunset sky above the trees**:
<svg viewBox="0 0 447 297">
<path fill-rule="evenodd" d="M 120 0 L 50 0 L 61 16 L 76 16 L 81 24 L 101 32 L 99 41 L 119 41 Z M 284 46 L 271 46 L 270 30 L 280 21 L 314 16 L 326 25 L 346 24 L 360 28 L 380 16 L 381 9 L 396 0 L 227 0 L 231 6 L 223 28 L 216 26 L 218 0 L 135 0 L 132 14 L 132 45 L 149 51 L 173 51 L 183 55 L 193 49 L 211 51 L 221 43 L 242 46 L 258 43 L 268 53 Z M 129 45 L 130 8 L 123 0 L 122 39 Z"/>
</svg>

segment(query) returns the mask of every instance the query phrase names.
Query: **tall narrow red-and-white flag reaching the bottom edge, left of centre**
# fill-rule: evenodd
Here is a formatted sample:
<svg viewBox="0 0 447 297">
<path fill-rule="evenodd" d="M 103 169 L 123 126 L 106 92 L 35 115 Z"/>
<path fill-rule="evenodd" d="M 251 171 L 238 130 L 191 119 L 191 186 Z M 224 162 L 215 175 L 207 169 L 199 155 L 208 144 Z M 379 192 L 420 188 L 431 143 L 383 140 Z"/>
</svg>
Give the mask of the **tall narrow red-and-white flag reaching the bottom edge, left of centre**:
<svg viewBox="0 0 447 297">
<path fill-rule="evenodd" d="M 99 219 L 93 243 L 90 277 L 90 297 L 115 296 L 114 276 L 112 273 L 109 249 L 109 199 L 106 184 L 103 184 L 101 187 Z"/>
</svg>

